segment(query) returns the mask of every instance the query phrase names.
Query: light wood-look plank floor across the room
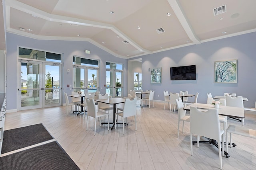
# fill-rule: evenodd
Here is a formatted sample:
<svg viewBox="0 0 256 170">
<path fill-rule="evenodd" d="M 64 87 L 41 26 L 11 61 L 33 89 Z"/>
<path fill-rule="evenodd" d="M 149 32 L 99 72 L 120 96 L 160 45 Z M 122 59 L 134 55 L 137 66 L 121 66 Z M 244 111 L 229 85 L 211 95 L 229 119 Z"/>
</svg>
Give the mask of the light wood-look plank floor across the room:
<svg viewBox="0 0 256 170">
<path fill-rule="evenodd" d="M 218 149 L 212 145 L 193 145 L 190 155 L 190 124 L 184 123 L 177 138 L 178 113 L 164 110 L 163 103 L 154 102 L 150 109 L 138 106 L 137 131 L 130 117 L 125 135 L 122 125 L 108 131 L 97 121 L 94 136 L 94 119 L 89 118 L 88 131 L 86 119 L 71 112 L 66 116 L 66 106 L 18 111 L 7 113 L 5 130 L 42 123 L 81 170 L 219 169 Z M 242 125 L 232 119 L 228 123 Z M 244 126 L 256 129 L 256 115 L 247 114 Z M 237 146 L 229 148 L 229 158 L 222 157 L 223 170 L 256 169 L 256 140 L 232 137 Z"/>
</svg>

